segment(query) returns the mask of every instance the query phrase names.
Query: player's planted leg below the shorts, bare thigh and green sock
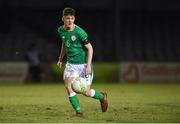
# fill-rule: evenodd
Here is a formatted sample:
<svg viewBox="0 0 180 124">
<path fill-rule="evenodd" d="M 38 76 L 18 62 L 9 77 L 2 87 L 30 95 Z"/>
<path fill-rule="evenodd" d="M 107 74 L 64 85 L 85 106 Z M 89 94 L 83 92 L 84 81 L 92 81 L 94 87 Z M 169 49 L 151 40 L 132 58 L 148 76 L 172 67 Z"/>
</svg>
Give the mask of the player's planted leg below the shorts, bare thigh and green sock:
<svg viewBox="0 0 180 124">
<path fill-rule="evenodd" d="M 65 87 L 69 95 L 69 101 L 72 107 L 74 108 L 74 110 L 76 111 L 76 114 L 79 115 L 81 114 L 80 103 L 76 93 L 71 88 L 72 80 L 73 78 L 65 78 Z"/>
</svg>

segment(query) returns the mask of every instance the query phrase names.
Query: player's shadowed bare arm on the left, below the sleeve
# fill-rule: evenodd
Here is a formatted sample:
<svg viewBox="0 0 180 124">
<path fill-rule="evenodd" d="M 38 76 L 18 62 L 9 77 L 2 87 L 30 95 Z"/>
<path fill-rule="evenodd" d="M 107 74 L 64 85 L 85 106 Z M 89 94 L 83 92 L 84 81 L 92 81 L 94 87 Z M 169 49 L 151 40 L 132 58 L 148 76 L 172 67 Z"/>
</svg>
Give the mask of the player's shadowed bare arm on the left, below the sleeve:
<svg viewBox="0 0 180 124">
<path fill-rule="evenodd" d="M 60 50 L 60 55 L 59 55 L 59 60 L 57 62 L 57 65 L 61 68 L 63 67 L 63 58 L 66 54 L 66 50 L 65 50 L 65 47 L 64 47 L 64 43 L 62 42 L 62 45 L 61 45 L 61 50 Z"/>
</svg>

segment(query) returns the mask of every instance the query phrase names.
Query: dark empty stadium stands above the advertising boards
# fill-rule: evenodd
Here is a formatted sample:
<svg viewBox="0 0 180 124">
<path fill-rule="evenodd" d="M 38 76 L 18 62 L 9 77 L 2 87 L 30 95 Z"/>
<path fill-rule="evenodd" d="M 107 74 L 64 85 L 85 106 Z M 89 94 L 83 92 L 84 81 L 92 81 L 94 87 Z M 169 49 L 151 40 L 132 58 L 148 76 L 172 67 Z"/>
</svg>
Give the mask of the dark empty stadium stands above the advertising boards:
<svg viewBox="0 0 180 124">
<path fill-rule="evenodd" d="M 59 57 L 64 7 L 94 47 L 93 62 L 179 62 L 178 0 L 0 0 L 0 62 L 25 61 L 31 43 L 47 68 Z"/>
</svg>

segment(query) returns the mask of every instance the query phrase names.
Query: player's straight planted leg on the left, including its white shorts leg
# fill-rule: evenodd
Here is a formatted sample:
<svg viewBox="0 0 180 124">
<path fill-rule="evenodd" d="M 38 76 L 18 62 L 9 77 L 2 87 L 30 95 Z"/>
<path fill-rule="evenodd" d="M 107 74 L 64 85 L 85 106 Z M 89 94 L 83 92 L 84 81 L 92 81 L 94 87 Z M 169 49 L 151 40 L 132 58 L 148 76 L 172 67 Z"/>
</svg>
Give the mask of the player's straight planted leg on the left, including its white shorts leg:
<svg viewBox="0 0 180 124">
<path fill-rule="evenodd" d="M 79 114 L 81 113 L 79 99 L 71 87 L 71 83 L 74 78 L 75 78 L 75 72 L 73 72 L 73 67 L 72 65 L 67 64 L 64 70 L 65 87 L 66 87 L 66 90 L 69 96 L 69 101 L 72 107 L 74 108 L 76 113 Z"/>
</svg>

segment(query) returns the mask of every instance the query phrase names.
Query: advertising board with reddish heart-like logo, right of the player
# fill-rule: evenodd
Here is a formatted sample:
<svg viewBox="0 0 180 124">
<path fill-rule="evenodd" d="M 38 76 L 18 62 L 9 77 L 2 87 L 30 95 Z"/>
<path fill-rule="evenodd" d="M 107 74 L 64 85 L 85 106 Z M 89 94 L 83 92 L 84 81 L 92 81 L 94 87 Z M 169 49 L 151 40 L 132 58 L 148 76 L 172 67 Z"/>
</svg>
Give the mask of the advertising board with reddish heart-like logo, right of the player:
<svg viewBox="0 0 180 124">
<path fill-rule="evenodd" d="M 121 82 L 180 81 L 179 63 L 121 63 Z"/>
</svg>

